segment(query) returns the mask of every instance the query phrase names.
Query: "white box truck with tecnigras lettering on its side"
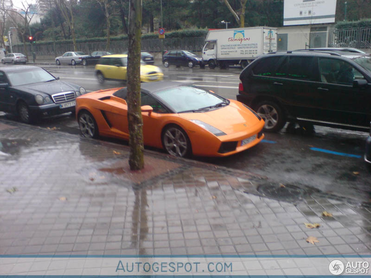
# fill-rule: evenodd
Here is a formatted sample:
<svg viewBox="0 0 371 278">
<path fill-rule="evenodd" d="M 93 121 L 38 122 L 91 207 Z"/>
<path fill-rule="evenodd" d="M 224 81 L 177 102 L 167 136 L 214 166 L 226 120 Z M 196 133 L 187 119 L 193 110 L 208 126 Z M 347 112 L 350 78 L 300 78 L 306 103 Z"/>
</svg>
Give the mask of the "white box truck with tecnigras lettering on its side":
<svg viewBox="0 0 371 278">
<path fill-rule="evenodd" d="M 205 42 L 202 59 L 211 69 L 232 64 L 244 68 L 257 56 L 277 51 L 277 28 L 209 30 Z"/>
</svg>

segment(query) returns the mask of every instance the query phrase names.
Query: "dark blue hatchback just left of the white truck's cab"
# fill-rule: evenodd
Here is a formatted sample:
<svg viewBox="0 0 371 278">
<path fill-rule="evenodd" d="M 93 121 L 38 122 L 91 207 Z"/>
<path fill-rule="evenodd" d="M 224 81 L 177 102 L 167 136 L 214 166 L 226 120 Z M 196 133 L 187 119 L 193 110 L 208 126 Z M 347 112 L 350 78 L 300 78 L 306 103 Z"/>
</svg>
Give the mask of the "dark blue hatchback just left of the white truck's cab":
<svg viewBox="0 0 371 278">
<path fill-rule="evenodd" d="M 202 58 L 189 50 L 169 50 L 162 56 L 162 63 L 165 67 L 175 66 L 203 66 Z"/>
</svg>

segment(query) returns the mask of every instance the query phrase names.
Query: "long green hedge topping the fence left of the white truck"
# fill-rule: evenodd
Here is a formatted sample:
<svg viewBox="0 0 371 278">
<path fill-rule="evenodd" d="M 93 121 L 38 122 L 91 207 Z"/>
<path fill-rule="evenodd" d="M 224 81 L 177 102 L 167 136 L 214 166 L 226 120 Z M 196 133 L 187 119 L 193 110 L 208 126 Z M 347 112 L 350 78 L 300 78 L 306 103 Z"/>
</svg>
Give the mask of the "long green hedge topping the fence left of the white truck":
<svg viewBox="0 0 371 278">
<path fill-rule="evenodd" d="M 207 35 L 207 29 L 185 29 L 185 30 L 178 30 L 165 33 L 166 38 L 184 38 L 184 37 L 203 37 Z M 120 41 L 120 40 L 127 40 L 127 35 L 120 35 L 120 36 L 113 36 L 111 37 L 111 41 Z M 142 39 L 158 39 L 158 33 L 148 33 L 142 34 Z M 85 39 L 76 39 L 76 43 L 97 43 L 97 42 L 106 42 L 106 37 L 96 37 L 96 38 L 85 38 Z M 72 44 L 72 40 L 56 40 L 56 44 Z M 36 42 L 36 45 L 46 45 L 46 44 L 53 44 L 53 41 L 40 41 Z M 22 44 L 18 44 L 22 45 Z"/>
</svg>

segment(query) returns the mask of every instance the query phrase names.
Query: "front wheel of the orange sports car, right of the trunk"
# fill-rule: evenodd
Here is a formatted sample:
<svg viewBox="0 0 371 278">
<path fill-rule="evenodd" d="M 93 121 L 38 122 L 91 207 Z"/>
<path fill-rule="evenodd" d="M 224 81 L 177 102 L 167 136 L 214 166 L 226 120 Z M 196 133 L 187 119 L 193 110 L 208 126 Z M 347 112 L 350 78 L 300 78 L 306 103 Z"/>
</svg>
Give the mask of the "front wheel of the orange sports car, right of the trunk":
<svg viewBox="0 0 371 278">
<path fill-rule="evenodd" d="M 164 129 L 162 145 L 169 155 L 189 157 L 192 154 L 191 141 L 187 133 L 177 125 L 168 125 Z"/>
</svg>

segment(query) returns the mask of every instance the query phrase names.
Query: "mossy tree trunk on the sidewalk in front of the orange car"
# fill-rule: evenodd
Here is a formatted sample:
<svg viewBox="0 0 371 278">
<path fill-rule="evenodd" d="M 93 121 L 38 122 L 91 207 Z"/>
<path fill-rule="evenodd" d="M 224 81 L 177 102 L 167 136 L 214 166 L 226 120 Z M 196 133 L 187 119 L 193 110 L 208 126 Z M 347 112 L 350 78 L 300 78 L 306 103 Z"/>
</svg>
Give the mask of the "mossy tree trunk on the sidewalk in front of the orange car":
<svg viewBox="0 0 371 278">
<path fill-rule="evenodd" d="M 144 168 L 143 121 L 140 99 L 140 49 L 142 27 L 142 0 L 130 0 L 128 59 L 128 124 L 129 166 L 131 170 Z"/>
</svg>

